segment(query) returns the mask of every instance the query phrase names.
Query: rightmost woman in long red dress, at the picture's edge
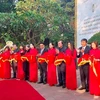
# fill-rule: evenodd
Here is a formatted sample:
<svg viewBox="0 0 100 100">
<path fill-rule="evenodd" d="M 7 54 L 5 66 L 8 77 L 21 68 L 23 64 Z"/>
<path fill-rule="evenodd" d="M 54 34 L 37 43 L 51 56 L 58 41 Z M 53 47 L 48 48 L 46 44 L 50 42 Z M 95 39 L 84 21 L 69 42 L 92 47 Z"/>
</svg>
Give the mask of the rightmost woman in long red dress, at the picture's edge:
<svg viewBox="0 0 100 100">
<path fill-rule="evenodd" d="M 100 96 L 100 50 L 96 41 L 91 43 L 92 49 L 90 50 L 90 94 L 94 98 Z"/>
</svg>

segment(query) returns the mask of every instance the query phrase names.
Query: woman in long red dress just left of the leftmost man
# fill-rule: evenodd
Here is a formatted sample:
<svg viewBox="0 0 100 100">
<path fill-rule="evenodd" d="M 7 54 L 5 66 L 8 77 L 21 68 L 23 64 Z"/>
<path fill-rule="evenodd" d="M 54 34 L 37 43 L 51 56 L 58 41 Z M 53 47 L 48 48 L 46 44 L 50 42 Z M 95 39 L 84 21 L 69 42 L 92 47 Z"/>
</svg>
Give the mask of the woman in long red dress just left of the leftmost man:
<svg viewBox="0 0 100 100">
<path fill-rule="evenodd" d="M 3 78 L 11 78 L 11 65 L 9 62 L 10 59 L 10 49 L 7 46 L 2 54 L 2 67 L 3 67 Z"/>
</svg>

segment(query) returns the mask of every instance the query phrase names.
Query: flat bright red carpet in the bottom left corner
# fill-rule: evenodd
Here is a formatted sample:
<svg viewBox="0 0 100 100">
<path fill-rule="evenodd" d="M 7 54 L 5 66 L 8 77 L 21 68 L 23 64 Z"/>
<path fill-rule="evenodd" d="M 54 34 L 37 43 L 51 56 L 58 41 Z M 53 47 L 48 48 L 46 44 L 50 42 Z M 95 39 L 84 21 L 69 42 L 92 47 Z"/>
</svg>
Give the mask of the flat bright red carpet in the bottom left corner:
<svg viewBox="0 0 100 100">
<path fill-rule="evenodd" d="M 25 81 L 0 81 L 0 100 L 45 100 Z"/>
</svg>

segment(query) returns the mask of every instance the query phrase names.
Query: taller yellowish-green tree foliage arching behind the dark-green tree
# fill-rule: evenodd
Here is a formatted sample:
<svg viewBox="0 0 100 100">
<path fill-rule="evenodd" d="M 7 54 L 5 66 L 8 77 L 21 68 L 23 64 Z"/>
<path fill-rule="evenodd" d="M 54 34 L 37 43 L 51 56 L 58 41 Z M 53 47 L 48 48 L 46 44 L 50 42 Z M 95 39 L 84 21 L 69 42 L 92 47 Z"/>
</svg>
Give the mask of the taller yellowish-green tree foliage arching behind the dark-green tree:
<svg viewBox="0 0 100 100">
<path fill-rule="evenodd" d="M 43 37 L 49 37 L 55 42 L 60 39 L 65 42 L 70 39 L 73 41 L 73 29 L 69 25 L 70 18 L 66 11 L 55 0 L 20 1 L 16 5 L 16 9 L 18 14 L 31 10 L 45 18 L 47 29 L 46 35 L 42 34 L 42 39 Z M 61 34 L 63 34 L 63 36 L 61 36 Z"/>
</svg>

